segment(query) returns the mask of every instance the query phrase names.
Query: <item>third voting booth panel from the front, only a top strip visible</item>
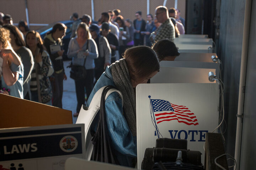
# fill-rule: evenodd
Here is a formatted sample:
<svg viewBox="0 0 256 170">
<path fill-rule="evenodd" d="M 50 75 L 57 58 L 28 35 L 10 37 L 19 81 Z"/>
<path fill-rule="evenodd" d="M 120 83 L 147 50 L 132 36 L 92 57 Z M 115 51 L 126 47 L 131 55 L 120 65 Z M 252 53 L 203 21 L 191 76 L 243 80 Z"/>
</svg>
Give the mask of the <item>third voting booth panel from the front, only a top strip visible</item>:
<svg viewBox="0 0 256 170">
<path fill-rule="evenodd" d="M 219 64 L 215 62 L 191 62 L 191 61 L 161 61 L 160 67 L 185 67 L 185 68 L 206 68 L 215 69 L 219 78 Z M 208 72 L 209 73 L 209 72 Z"/>
</svg>

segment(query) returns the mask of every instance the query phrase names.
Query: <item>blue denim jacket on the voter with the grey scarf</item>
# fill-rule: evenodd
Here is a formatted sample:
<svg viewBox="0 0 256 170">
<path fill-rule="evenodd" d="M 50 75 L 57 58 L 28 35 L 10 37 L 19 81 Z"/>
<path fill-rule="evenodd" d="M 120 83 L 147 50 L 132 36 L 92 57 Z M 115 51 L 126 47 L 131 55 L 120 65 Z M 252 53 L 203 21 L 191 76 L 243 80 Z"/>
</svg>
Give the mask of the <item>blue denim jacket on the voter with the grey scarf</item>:
<svg viewBox="0 0 256 170">
<path fill-rule="evenodd" d="M 90 97 L 86 103 L 88 107 L 95 93 L 103 86 L 111 85 L 116 87 L 111 74 L 111 66 L 106 68 L 100 79 L 94 86 Z M 106 120 L 108 133 L 110 135 L 112 146 L 119 163 L 122 166 L 132 166 L 132 157 L 137 157 L 137 138 L 132 135 L 127 121 L 123 115 L 122 100 L 114 92 L 108 96 L 105 102 Z M 92 124 L 92 129 L 96 131 L 97 122 Z"/>
</svg>

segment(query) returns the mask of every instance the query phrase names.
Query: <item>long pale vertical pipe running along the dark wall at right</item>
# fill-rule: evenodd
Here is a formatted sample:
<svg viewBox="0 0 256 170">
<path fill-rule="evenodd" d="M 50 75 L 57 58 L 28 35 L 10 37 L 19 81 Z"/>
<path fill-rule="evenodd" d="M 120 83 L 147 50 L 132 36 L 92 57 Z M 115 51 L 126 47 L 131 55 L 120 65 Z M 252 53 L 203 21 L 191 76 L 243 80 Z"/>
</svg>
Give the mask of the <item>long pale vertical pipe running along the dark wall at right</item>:
<svg viewBox="0 0 256 170">
<path fill-rule="evenodd" d="M 244 95 L 245 95 L 245 79 L 247 67 L 247 53 L 248 41 L 251 22 L 251 5 L 252 0 L 245 1 L 245 17 L 244 17 L 244 32 L 242 39 L 242 56 L 241 56 L 241 70 L 240 70 L 240 83 L 239 83 L 239 97 L 238 97 L 238 113 L 236 123 L 236 143 L 235 143 L 235 160 L 236 166 L 234 169 L 240 169 L 240 154 L 241 154 L 241 140 L 242 140 L 242 121 L 244 115 Z"/>
</svg>

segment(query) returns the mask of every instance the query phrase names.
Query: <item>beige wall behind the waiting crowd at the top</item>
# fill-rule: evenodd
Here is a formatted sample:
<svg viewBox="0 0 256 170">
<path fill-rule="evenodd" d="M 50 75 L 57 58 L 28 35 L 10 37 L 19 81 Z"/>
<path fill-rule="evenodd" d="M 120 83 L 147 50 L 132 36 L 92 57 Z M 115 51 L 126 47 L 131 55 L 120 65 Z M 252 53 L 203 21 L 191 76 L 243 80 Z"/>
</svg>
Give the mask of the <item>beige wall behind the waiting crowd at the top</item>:
<svg viewBox="0 0 256 170">
<path fill-rule="evenodd" d="M 166 7 L 174 7 L 175 0 L 168 0 Z M 155 8 L 163 5 L 164 0 L 150 0 L 150 13 L 155 14 Z M 30 23 L 48 24 L 70 18 L 73 12 L 91 16 L 91 0 L 27 0 Z M 177 7 L 181 11 L 181 17 L 185 18 L 186 0 L 178 0 Z M 97 21 L 102 12 L 120 9 L 121 15 L 127 19 L 135 19 L 135 12 L 142 11 L 142 17 L 146 19 L 146 0 L 94 0 L 94 16 Z M 0 12 L 12 16 L 14 23 L 21 19 L 26 20 L 25 0 L 1 0 Z M 38 27 L 33 27 L 37 29 Z"/>
</svg>

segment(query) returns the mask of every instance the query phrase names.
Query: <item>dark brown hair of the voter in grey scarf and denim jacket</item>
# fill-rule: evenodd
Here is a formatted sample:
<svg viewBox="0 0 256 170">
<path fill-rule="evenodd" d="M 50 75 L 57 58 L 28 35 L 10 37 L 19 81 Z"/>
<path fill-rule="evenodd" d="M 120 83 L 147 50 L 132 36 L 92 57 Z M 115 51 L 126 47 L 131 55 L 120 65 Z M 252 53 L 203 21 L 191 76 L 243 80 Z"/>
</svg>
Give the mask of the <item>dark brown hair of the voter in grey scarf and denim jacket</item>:
<svg viewBox="0 0 256 170">
<path fill-rule="evenodd" d="M 127 62 L 130 78 L 138 81 L 159 71 L 160 64 L 154 50 L 147 46 L 136 46 L 127 49 L 123 56 Z"/>
</svg>

